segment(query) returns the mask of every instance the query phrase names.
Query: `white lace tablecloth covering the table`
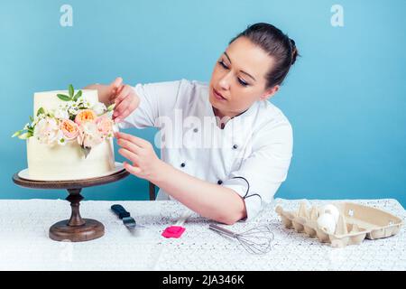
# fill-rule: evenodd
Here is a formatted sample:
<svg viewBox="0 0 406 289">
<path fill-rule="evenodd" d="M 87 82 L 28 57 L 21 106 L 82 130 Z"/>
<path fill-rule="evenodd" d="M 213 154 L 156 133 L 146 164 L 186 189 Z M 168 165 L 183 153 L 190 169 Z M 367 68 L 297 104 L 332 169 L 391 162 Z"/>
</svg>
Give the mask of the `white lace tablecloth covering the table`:
<svg viewBox="0 0 406 289">
<path fill-rule="evenodd" d="M 388 210 L 405 219 L 396 200 L 351 200 Z M 309 200 L 321 205 L 328 200 Z M 110 210 L 122 204 L 144 228 L 130 231 Z M 343 248 L 330 247 L 293 229 L 284 228 L 274 211 L 297 210 L 300 200 L 276 199 L 250 222 L 226 228 L 240 232 L 260 224 L 272 227 L 272 250 L 255 256 L 235 239 L 208 229 L 209 221 L 192 215 L 179 239 L 161 237 L 184 207 L 162 201 L 82 201 L 83 218 L 97 219 L 105 236 L 88 242 L 56 242 L 51 225 L 69 219 L 66 200 L 0 200 L 0 270 L 406 270 L 405 226 L 391 238 L 364 241 Z"/>
</svg>

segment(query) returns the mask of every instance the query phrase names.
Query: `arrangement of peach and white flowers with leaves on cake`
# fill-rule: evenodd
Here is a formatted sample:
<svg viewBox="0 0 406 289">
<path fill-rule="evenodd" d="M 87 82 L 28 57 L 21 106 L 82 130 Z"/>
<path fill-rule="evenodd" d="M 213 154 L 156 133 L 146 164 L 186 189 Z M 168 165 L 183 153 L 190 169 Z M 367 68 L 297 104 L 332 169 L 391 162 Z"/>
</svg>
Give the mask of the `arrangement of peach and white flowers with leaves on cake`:
<svg viewBox="0 0 406 289">
<path fill-rule="evenodd" d="M 114 105 L 106 107 L 103 103 L 88 99 L 82 96 L 81 90 L 74 94 L 71 85 L 68 91 L 69 96 L 55 96 L 64 101 L 56 109 L 46 111 L 41 107 L 34 118 L 30 117 L 32 123 L 26 124 L 13 137 L 28 139 L 34 136 L 41 144 L 50 146 L 76 141 L 85 157 L 91 148 L 112 138 L 116 130 L 111 114 Z"/>
</svg>

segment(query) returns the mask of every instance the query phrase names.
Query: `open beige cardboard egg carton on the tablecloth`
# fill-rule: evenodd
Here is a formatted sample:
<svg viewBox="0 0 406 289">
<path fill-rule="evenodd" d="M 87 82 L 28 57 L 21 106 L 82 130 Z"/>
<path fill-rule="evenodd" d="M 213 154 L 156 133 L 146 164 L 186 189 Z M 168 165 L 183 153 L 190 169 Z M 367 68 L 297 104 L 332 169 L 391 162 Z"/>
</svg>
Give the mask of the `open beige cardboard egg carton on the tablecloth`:
<svg viewBox="0 0 406 289">
<path fill-rule="evenodd" d="M 400 218 L 384 210 L 353 202 L 332 204 L 339 212 L 334 233 L 318 225 L 323 207 L 313 206 L 308 210 L 306 201 L 301 201 L 297 211 L 285 211 L 281 206 L 277 206 L 275 210 L 286 228 L 294 228 L 310 238 L 330 243 L 332 247 L 358 245 L 364 238 L 374 240 L 391 237 L 399 232 L 403 224 Z"/>
</svg>

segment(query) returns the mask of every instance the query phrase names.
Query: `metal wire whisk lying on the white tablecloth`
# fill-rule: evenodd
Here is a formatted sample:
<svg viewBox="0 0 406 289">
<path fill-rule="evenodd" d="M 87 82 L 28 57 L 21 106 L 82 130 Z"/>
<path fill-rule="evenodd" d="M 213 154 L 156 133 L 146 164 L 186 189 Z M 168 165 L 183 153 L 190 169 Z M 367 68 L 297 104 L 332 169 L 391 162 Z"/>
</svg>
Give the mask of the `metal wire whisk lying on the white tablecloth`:
<svg viewBox="0 0 406 289">
<path fill-rule="evenodd" d="M 266 254 L 272 249 L 274 235 L 271 228 L 266 225 L 250 228 L 243 233 L 235 233 L 216 224 L 210 224 L 208 228 L 228 237 L 236 238 L 245 250 L 252 254 Z"/>
</svg>

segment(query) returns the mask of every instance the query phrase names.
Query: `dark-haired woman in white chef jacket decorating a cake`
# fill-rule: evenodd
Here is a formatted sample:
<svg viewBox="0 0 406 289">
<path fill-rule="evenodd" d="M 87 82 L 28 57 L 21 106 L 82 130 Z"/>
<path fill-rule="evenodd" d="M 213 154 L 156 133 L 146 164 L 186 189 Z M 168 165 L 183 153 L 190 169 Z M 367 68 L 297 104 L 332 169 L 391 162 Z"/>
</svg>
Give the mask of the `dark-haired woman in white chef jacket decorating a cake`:
<svg viewBox="0 0 406 289">
<path fill-rule="evenodd" d="M 161 83 L 92 85 L 115 103 L 121 128 L 161 130 L 161 160 L 152 144 L 117 133 L 130 163 L 125 169 L 160 188 L 157 200 L 179 200 L 225 224 L 252 219 L 285 181 L 292 130 L 267 99 L 279 90 L 298 51 L 268 23 L 249 26 L 220 55 L 209 84 L 181 79 Z"/>
</svg>

